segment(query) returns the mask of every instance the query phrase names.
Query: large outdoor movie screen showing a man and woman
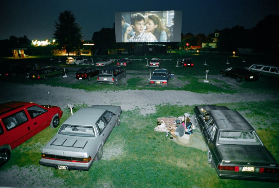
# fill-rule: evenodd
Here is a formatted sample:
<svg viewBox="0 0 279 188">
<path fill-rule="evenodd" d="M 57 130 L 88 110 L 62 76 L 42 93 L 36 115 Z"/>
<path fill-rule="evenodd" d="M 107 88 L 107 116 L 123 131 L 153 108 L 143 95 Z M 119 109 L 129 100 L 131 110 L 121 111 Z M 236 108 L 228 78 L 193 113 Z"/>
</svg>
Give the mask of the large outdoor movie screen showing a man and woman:
<svg viewBox="0 0 279 188">
<path fill-rule="evenodd" d="M 182 11 L 115 13 L 116 42 L 180 42 Z"/>
</svg>

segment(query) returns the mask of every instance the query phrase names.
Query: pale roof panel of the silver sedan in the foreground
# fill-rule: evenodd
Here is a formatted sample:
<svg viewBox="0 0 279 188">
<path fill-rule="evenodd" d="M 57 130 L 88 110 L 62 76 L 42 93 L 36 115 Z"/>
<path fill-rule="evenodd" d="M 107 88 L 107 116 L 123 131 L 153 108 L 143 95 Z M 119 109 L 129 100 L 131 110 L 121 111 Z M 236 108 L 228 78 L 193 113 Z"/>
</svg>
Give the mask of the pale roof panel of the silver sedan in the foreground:
<svg viewBox="0 0 279 188">
<path fill-rule="evenodd" d="M 82 108 L 70 116 L 63 124 L 67 125 L 95 125 L 100 116 L 105 112 L 100 108 Z"/>
</svg>

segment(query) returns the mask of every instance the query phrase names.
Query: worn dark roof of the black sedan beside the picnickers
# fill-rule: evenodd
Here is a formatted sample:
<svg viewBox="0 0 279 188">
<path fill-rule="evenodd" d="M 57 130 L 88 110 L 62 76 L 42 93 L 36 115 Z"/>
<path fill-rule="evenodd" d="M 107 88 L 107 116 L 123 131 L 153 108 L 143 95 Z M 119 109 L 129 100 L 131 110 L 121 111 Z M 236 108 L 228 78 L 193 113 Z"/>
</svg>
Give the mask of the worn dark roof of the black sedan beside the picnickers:
<svg viewBox="0 0 279 188">
<path fill-rule="evenodd" d="M 210 116 L 220 130 L 253 131 L 254 128 L 237 111 L 210 110 Z"/>
</svg>

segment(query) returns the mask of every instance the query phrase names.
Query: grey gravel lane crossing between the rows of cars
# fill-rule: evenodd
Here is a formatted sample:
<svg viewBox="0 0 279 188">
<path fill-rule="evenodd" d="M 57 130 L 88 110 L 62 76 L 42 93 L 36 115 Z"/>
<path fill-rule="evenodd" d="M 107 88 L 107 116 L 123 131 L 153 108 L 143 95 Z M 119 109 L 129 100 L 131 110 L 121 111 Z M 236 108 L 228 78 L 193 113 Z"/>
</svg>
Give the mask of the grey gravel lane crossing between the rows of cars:
<svg viewBox="0 0 279 188">
<path fill-rule="evenodd" d="M 277 100 L 277 94 L 253 94 L 252 92 L 237 94 L 199 94 L 179 90 L 122 90 L 100 92 L 52 87 L 49 85 L 23 85 L 0 81 L 2 96 L 0 103 L 8 101 L 31 101 L 38 104 L 51 104 L 66 108 L 67 104 L 119 105 L 124 111 L 140 109 L 142 115 L 153 113 L 155 105 L 201 105 L 214 103 L 237 103 L 248 101 Z M 49 96 L 48 96 L 49 95 Z"/>
</svg>

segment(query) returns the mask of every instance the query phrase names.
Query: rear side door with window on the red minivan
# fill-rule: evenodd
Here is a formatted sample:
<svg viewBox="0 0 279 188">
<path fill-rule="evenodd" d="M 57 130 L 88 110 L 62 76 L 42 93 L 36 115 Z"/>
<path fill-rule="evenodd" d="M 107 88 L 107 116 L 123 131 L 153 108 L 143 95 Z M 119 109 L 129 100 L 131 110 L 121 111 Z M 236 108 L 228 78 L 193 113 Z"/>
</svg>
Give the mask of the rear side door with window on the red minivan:
<svg viewBox="0 0 279 188">
<path fill-rule="evenodd" d="M 11 149 L 30 138 L 30 123 L 24 110 L 16 111 L 2 118 L 2 122 L 7 130 L 5 133 L 6 143 L 11 146 Z"/>
</svg>

